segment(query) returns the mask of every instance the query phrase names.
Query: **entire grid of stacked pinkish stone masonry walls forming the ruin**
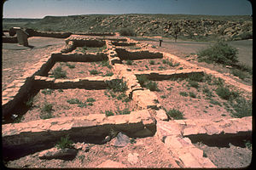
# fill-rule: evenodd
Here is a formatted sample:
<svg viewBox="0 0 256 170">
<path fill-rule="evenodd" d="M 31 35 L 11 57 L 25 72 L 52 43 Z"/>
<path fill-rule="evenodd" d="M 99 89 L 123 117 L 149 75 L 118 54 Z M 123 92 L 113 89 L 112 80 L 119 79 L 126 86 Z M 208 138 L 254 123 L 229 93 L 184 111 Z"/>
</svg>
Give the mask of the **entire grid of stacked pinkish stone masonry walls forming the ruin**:
<svg viewBox="0 0 256 170">
<path fill-rule="evenodd" d="M 44 35 L 44 32 L 41 32 Z M 64 36 L 64 34 L 61 34 Z M 66 34 L 65 34 L 66 35 Z M 110 36 L 110 35 L 109 35 Z M 191 140 L 198 135 L 212 138 L 218 135 L 243 135 L 252 133 L 252 117 L 229 120 L 176 120 L 168 121 L 166 112 L 161 110 L 158 98 L 154 92 L 143 89 L 137 81 L 138 75 L 146 75 L 151 80 L 165 80 L 171 77 L 183 77 L 190 74 L 210 73 L 206 68 L 192 65 L 177 56 L 160 53 L 148 47 L 148 44 L 138 43 L 124 37 L 83 37 L 70 36 L 62 49 L 45 55 L 37 64 L 25 71 L 23 77 L 10 83 L 2 93 L 3 116 L 12 114 L 12 110 L 32 88 L 107 88 L 108 82 L 123 79 L 128 90 L 126 95 L 137 103 L 139 111 L 132 111 L 130 115 L 105 116 L 93 114 L 80 117 L 61 117 L 47 120 L 38 120 L 26 123 L 9 123 L 3 125 L 3 150 L 16 150 L 22 147 L 40 147 L 49 143 L 54 144 L 65 134 L 71 134 L 73 139 L 86 136 L 105 137 L 110 128 L 127 133 L 130 137 L 147 137 L 154 134 L 163 141 L 173 155 L 182 162 L 183 167 L 216 167 L 212 161 L 203 156 L 203 151 L 192 144 Z M 77 47 L 84 45 L 102 47 L 107 49 L 102 53 L 78 54 L 73 53 Z M 127 50 L 121 46 L 137 45 L 150 50 Z M 116 46 L 119 46 L 118 48 Z M 76 79 L 49 78 L 48 72 L 56 61 L 91 62 L 108 59 L 113 65 L 112 77 L 79 77 Z M 167 71 L 131 71 L 127 65 L 122 64 L 123 59 L 173 59 L 191 69 Z M 218 73 L 213 76 L 218 77 Z M 227 81 L 236 86 L 234 80 Z M 244 88 L 249 91 L 251 88 Z M 153 115 L 149 112 L 153 111 Z M 51 147 L 51 146 L 49 146 Z M 30 148 L 27 148 L 28 150 Z M 9 152 L 9 151 L 7 151 Z"/>
</svg>

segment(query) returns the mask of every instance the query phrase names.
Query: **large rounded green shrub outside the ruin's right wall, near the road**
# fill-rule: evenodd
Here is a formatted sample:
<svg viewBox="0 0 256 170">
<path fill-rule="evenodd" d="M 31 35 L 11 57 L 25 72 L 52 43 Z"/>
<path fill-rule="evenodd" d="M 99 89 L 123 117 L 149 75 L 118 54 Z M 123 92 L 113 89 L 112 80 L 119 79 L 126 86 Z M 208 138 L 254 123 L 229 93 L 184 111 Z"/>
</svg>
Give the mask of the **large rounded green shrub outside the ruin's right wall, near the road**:
<svg viewBox="0 0 256 170">
<path fill-rule="evenodd" d="M 207 49 L 198 53 L 201 61 L 209 60 L 223 65 L 234 65 L 238 63 L 238 50 L 224 42 L 217 42 Z"/>
</svg>

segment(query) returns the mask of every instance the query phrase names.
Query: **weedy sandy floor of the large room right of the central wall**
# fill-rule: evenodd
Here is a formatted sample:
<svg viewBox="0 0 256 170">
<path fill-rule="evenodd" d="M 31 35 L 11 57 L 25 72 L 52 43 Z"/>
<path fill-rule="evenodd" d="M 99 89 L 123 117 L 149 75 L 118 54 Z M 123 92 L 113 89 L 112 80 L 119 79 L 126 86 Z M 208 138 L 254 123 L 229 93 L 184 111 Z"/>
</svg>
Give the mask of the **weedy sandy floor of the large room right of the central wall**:
<svg viewBox="0 0 256 170">
<path fill-rule="evenodd" d="M 185 119 L 215 119 L 215 118 L 230 118 L 230 113 L 224 109 L 223 99 L 219 99 L 213 89 L 214 86 L 207 86 L 207 82 L 199 82 L 200 88 L 189 87 L 188 82 L 183 80 L 176 81 L 155 81 L 158 83 L 159 92 L 155 92 L 160 105 L 166 108 L 167 111 L 176 109 L 183 112 Z M 203 94 L 203 87 L 207 87 L 212 91 L 214 97 L 212 99 L 218 101 L 220 105 L 213 105 L 207 99 L 206 94 Z M 187 93 L 188 96 L 183 96 L 180 93 Z M 195 98 L 189 96 L 189 92 L 195 94 Z"/>
</svg>

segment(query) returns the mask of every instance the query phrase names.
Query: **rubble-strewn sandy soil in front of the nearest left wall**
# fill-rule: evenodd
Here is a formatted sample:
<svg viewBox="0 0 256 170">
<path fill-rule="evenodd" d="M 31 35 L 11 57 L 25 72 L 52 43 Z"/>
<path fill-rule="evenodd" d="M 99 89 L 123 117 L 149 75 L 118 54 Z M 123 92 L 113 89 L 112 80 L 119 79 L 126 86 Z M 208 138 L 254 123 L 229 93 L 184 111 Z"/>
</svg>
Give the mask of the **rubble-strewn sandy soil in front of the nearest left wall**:
<svg viewBox="0 0 256 170">
<path fill-rule="evenodd" d="M 164 143 L 155 137 L 135 139 L 136 143 L 127 144 L 123 148 L 117 148 L 107 144 L 90 144 L 89 152 L 79 151 L 73 161 L 40 160 L 38 153 L 21 157 L 15 161 L 9 161 L 8 167 L 96 167 L 103 161 L 111 160 L 123 163 L 126 167 L 177 167 L 172 153 L 166 149 Z M 137 163 L 128 161 L 129 153 L 138 154 Z"/>
</svg>

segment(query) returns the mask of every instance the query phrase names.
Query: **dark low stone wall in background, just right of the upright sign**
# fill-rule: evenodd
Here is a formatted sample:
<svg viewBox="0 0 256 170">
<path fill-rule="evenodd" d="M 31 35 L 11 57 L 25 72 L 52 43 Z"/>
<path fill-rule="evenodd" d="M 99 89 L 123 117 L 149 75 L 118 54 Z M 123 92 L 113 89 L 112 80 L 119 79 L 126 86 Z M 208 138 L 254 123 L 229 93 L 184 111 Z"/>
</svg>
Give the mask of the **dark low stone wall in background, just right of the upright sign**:
<svg viewBox="0 0 256 170">
<path fill-rule="evenodd" d="M 29 37 L 57 37 L 57 38 L 67 38 L 72 35 L 72 32 L 52 32 L 52 31 L 35 31 L 33 29 L 25 30 Z"/>
</svg>

